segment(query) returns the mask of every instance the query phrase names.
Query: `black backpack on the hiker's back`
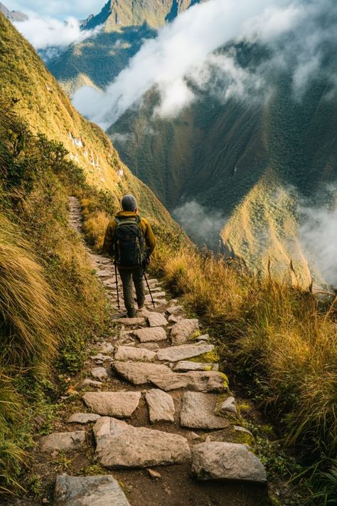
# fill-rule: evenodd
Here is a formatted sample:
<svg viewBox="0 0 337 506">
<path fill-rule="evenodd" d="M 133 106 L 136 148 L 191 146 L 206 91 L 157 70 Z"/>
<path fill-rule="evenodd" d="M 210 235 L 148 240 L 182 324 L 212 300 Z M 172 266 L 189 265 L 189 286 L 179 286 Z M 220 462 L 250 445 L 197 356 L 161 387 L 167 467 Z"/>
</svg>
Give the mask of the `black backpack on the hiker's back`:
<svg viewBox="0 0 337 506">
<path fill-rule="evenodd" d="M 145 245 L 139 216 L 116 216 L 114 261 L 122 267 L 137 267 L 144 260 Z"/>
</svg>

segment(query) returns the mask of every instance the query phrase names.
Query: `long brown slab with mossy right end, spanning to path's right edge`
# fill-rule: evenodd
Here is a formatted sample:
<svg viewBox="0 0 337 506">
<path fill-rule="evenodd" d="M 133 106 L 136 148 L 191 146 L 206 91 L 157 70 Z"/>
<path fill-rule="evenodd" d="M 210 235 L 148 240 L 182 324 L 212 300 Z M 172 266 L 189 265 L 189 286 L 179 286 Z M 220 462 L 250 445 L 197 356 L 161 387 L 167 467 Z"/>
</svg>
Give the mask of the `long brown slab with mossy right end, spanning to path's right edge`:
<svg viewBox="0 0 337 506">
<path fill-rule="evenodd" d="M 151 374 L 149 381 L 159 389 L 170 391 L 189 389 L 200 392 L 223 392 L 227 390 L 227 382 L 218 371 L 163 372 Z"/>
</svg>

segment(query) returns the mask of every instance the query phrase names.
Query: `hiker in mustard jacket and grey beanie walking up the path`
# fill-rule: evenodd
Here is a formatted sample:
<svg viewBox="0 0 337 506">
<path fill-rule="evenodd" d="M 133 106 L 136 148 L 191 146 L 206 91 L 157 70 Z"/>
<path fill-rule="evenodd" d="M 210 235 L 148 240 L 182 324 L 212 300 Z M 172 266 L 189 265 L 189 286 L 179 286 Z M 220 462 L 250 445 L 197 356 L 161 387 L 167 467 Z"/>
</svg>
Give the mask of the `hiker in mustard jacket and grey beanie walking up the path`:
<svg viewBox="0 0 337 506">
<path fill-rule="evenodd" d="M 156 239 L 149 221 L 137 214 L 137 201 L 133 195 L 124 195 L 122 211 L 112 218 L 105 232 L 103 250 L 114 257 L 123 284 L 124 304 L 127 316 L 136 316 L 132 280 L 136 289 L 137 305 L 145 302 L 144 270 L 156 246 Z"/>
</svg>

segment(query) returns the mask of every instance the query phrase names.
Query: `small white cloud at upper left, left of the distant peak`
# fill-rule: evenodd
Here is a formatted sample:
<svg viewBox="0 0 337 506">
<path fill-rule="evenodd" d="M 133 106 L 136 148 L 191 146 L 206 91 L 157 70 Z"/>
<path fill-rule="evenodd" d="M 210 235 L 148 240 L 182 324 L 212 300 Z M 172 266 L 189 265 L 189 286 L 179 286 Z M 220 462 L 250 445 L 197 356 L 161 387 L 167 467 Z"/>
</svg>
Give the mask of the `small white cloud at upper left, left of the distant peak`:
<svg viewBox="0 0 337 506">
<path fill-rule="evenodd" d="M 30 15 L 27 21 L 14 23 L 18 31 L 37 50 L 51 47 L 65 47 L 73 42 L 80 42 L 98 33 L 100 26 L 92 31 L 81 31 L 80 23 L 75 18 L 58 21 L 53 18 L 40 18 Z"/>
</svg>

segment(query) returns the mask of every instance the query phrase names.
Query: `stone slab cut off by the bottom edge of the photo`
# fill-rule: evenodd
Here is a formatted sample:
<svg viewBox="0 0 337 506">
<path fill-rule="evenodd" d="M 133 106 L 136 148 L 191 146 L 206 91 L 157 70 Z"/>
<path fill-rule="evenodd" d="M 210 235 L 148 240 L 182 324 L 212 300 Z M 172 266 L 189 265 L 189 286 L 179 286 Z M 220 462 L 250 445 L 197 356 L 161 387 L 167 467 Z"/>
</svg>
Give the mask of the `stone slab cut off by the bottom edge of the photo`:
<svg viewBox="0 0 337 506">
<path fill-rule="evenodd" d="M 58 476 L 54 489 L 55 506 L 130 506 L 112 476 Z"/>
</svg>

